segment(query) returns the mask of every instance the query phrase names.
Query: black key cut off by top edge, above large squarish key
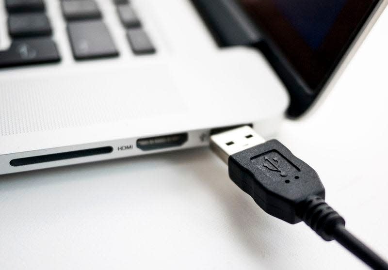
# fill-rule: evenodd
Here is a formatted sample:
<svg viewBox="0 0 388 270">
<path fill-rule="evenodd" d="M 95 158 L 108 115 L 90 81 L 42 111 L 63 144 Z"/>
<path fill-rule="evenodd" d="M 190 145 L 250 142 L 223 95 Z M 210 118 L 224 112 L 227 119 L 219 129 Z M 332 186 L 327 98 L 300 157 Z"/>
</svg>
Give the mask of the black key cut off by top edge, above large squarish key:
<svg viewBox="0 0 388 270">
<path fill-rule="evenodd" d="M 101 17 L 98 5 L 94 0 L 62 1 L 62 12 L 66 20 L 97 19 Z"/>
</svg>

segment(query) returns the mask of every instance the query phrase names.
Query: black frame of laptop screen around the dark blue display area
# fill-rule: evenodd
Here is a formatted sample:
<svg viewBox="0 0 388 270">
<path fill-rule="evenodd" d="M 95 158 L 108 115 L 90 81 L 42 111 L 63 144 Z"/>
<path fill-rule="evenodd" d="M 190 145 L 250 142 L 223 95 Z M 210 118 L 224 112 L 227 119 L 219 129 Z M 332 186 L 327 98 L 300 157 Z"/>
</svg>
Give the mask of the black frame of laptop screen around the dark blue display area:
<svg viewBox="0 0 388 270">
<path fill-rule="evenodd" d="M 320 94 L 381 0 L 348 0 L 321 47 L 312 50 L 271 0 L 238 0 L 263 34 L 259 48 L 291 94 L 288 114 L 304 113 Z"/>
</svg>

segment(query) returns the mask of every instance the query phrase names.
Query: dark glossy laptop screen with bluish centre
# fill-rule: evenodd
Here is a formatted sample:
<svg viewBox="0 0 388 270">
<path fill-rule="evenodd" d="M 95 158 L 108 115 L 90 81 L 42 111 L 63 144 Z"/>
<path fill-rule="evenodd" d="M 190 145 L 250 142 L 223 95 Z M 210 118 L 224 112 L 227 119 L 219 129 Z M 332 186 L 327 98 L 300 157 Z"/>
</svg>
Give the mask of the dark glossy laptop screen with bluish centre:
<svg viewBox="0 0 388 270">
<path fill-rule="evenodd" d="M 379 0 L 239 0 L 312 91 L 319 91 Z"/>
</svg>

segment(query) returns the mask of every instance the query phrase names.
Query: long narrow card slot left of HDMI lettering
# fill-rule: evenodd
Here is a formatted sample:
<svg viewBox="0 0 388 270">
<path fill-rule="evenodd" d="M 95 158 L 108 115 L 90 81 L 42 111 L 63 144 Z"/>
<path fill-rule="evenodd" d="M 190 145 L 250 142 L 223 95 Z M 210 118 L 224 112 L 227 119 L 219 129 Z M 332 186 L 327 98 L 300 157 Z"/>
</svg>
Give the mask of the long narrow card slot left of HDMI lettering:
<svg viewBox="0 0 388 270">
<path fill-rule="evenodd" d="M 42 156 L 34 156 L 34 157 L 21 158 L 21 159 L 12 159 L 9 162 L 9 164 L 13 167 L 17 167 L 17 166 L 25 166 L 25 165 L 45 163 L 45 162 L 58 161 L 58 160 L 64 160 L 64 159 L 90 157 L 90 156 L 96 156 L 96 155 L 102 155 L 102 154 L 109 154 L 112 152 L 113 152 L 112 146 L 105 146 L 105 147 L 90 148 L 90 149 L 84 149 L 84 150 L 62 152 L 62 153 L 55 153 L 55 154 L 42 155 Z"/>
</svg>

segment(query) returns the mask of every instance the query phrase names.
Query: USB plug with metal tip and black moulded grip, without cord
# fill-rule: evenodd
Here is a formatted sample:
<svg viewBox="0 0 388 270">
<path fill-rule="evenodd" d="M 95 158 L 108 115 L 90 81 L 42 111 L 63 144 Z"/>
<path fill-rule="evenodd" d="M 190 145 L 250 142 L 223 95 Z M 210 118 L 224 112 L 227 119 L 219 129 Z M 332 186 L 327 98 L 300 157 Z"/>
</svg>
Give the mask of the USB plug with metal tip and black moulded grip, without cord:
<svg viewBox="0 0 388 270">
<path fill-rule="evenodd" d="M 244 126 L 210 137 L 211 149 L 226 162 L 229 177 L 268 214 L 300 222 L 298 206 L 309 196 L 324 199 L 317 173 L 276 140 L 265 142 Z"/>
</svg>

